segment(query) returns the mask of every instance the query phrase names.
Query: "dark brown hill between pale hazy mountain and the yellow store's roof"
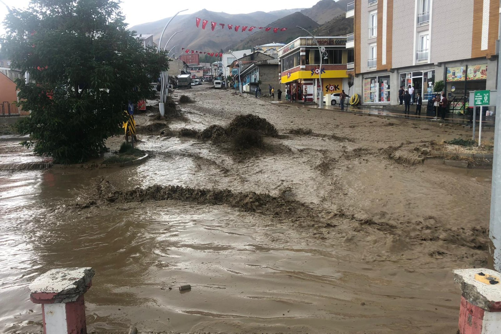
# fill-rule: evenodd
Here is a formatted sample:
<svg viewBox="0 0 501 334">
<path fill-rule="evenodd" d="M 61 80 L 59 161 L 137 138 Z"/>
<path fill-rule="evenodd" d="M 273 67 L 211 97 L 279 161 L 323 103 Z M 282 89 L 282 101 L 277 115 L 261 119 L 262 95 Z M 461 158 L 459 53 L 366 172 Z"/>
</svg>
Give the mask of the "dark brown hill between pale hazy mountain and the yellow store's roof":
<svg viewBox="0 0 501 334">
<path fill-rule="evenodd" d="M 329 0 L 332 1 L 332 0 Z M 353 20 L 352 20 L 353 21 Z M 319 27 L 319 24 L 300 12 L 293 13 L 285 18 L 279 19 L 268 25 L 269 27 L 287 27 L 285 32 L 265 32 L 263 30 L 256 32 L 253 35 L 245 38 L 233 46 L 235 50 L 254 48 L 257 45 L 277 42 L 289 43 L 296 38 L 305 35 L 305 32 L 296 26 L 303 27 L 308 30 L 314 30 Z"/>
</svg>

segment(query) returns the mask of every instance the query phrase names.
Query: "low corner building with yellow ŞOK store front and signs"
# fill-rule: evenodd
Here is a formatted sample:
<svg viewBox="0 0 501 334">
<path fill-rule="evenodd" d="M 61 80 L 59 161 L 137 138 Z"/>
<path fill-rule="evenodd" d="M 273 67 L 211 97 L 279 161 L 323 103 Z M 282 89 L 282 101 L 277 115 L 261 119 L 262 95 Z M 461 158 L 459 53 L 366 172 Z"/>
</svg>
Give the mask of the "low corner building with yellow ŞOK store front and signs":
<svg viewBox="0 0 501 334">
<path fill-rule="evenodd" d="M 325 48 L 320 66 L 317 42 Z M 330 104 L 332 93 L 341 92 L 347 85 L 346 64 L 353 62 L 353 50 L 346 49 L 346 36 L 299 37 L 278 51 L 280 83 L 286 84 L 296 100 L 301 88 L 307 101 L 317 101 L 320 92 L 327 95 Z M 322 85 L 319 74 L 321 74 Z M 322 87 L 321 87 L 322 86 Z"/>
</svg>

